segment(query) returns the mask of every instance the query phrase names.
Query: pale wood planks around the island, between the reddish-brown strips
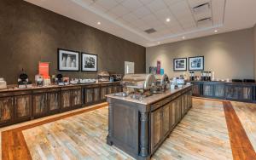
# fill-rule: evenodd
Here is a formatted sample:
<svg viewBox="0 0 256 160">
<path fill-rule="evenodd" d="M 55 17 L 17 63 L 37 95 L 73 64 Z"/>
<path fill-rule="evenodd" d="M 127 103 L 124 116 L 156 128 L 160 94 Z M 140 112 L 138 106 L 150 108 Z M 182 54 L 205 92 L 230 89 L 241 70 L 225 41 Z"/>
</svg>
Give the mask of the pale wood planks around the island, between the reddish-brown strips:
<svg viewBox="0 0 256 160">
<path fill-rule="evenodd" d="M 193 108 L 152 159 L 232 159 L 222 102 Z M 108 107 L 23 130 L 32 159 L 132 159 L 106 144 Z"/>
</svg>

